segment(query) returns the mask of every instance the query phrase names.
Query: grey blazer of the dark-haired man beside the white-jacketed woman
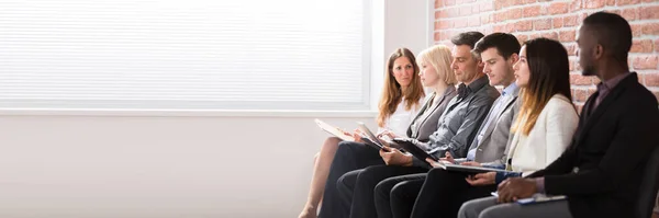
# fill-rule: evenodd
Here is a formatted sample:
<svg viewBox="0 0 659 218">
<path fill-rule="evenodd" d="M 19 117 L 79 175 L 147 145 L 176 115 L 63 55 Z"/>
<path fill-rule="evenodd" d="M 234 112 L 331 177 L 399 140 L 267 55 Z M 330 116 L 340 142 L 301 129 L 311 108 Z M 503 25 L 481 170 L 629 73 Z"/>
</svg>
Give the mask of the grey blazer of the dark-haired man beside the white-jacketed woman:
<svg viewBox="0 0 659 218">
<path fill-rule="evenodd" d="M 476 145 L 477 140 L 471 142 L 469 149 L 477 149 L 474 157 L 476 162 L 484 164 L 505 164 L 505 162 L 503 162 L 505 159 L 502 159 L 502 157 L 505 156 L 511 126 L 514 122 L 513 118 L 518 111 L 518 107 L 515 106 L 515 103 L 518 102 L 518 94 L 520 88 L 515 89 L 511 94 L 505 96 L 502 95 L 494 101 L 493 105 L 503 101 L 502 104 L 504 107 L 498 114 L 491 113 L 494 107 L 490 108 L 490 113 L 485 117 L 485 121 L 488 121 L 490 116 L 495 116 L 494 121 L 488 126 L 484 126 L 485 122 L 482 123 L 483 126 L 479 128 L 479 133 L 482 128 L 485 128 L 485 133 L 479 145 Z"/>
</svg>

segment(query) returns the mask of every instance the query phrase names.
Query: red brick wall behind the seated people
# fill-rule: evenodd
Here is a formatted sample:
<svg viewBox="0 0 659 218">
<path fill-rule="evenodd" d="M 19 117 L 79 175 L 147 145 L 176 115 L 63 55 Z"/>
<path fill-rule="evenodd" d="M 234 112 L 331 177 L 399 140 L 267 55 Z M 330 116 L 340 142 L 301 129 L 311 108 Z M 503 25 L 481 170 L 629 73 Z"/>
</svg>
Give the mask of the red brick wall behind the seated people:
<svg viewBox="0 0 659 218">
<path fill-rule="evenodd" d="M 549 37 L 563 43 L 570 55 L 572 97 L 581 111 L 600 81 L 581 77 L 574 56 L 577 26 L 593 12 L 610 11 L 629 21 L 634 45 L 630 70 L 659 99 L 659 0 L 435 0 L 435 43 L 466 31 L 513 33 L 521 42 Z"/>
</svg>

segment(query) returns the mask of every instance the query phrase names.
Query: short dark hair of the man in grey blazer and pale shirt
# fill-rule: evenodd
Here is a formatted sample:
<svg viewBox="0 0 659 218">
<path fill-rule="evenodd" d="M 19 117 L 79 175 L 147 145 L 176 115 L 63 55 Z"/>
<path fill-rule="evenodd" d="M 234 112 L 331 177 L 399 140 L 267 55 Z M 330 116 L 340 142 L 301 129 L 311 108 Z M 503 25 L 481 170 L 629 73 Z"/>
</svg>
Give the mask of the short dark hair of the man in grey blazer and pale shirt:
<svg viewBox="0 0 659 218">
<path fill-rule="evenodd" d="M 480 55 L 489 48 L 496 48 L 499 55 L 507 60 L 513 54 L 518 54 L 522 46 L 513 34 L 492 33 L 476 43 L 473 53 Z"/>
</svg>

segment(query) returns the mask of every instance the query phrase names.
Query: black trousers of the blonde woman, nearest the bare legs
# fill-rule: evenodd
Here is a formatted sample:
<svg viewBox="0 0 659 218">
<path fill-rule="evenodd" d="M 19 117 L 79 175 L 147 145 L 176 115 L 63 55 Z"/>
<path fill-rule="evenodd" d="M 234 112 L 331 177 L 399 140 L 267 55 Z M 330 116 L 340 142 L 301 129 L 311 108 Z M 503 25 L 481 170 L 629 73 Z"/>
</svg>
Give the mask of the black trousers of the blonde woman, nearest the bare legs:
<svg viewBox="0 0 659 218">
<path fill-rule="evenodd" d="M 336 190 L 336 182 L 347 172 L 364 169 L 369 165 L 384 164 L 380 152 L 365 144 L 342 141 L 330 168 L 330 175 L 323 193 L 323 205 L 319 217 L 321 218 L 340 218 L 348 217 L 350 205 L 345 204 L 339 198 Z"/>
</svg>

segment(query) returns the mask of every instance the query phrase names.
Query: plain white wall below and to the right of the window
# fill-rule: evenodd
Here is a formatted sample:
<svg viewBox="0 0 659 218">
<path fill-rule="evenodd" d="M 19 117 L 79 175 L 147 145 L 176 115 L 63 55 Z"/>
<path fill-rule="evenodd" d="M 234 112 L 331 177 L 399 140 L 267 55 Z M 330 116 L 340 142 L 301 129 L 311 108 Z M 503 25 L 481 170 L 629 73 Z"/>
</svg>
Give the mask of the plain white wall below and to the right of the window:
<svg viewBox="0 0 659 218">
<path fill-rule="evenodd" d="M 384 2 L 373 74 L 432 37 L 431 1 Z M 72 114 L 0 115 L 0 217 L 297 217 L 327 136 L 313 118 L 375 127 L 372 115 Z"/>
</svg>

